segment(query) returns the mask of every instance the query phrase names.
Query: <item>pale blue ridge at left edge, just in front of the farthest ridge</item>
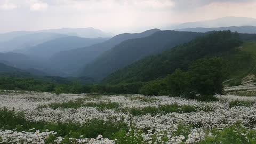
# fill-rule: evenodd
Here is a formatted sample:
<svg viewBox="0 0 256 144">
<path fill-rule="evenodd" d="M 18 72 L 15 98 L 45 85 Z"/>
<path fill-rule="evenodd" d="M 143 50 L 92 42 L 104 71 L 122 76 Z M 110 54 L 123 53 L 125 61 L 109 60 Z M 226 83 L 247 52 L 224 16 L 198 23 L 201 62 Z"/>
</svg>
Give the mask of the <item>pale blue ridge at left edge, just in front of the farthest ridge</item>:
<svg viewBox="0 0 256 144">
<path fill-rule="evenodd" d="M 30 47 L 37 45 L 39 43 L 44 43 L 50 41 L 51 39 L 67 37 L 67 35 L 57 34 L 57 33 L 33 33 L 21 35 L 14 37 L 9 41 L 4 41 L 0 43 L 0 51 L 10 52 L 17 49 L 23 49 L 25 47 Z"/>
</svg>

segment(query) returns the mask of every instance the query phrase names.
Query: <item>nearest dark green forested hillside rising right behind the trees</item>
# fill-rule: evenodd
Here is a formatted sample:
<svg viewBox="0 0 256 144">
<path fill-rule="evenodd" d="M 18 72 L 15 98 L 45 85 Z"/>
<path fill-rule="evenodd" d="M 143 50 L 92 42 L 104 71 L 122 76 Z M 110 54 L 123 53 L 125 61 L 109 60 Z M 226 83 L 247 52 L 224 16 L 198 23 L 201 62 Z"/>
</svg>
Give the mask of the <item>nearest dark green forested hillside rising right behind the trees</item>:
<svg viewBox="0 0 256 144">
<path fill-rule="evenodd" d="M 237 33 L 218 31 L 198 37 L 195 40 L 175 46 L 159 55 L 147 57 L 134 62 L 106 77 L 108 84 L 148 82 L 173 73 L 175 69 L 187 70 L 197 59 L 214 57 L 233 51 L 242 41 Z M 171 47 L 170 47 L 171 48 Z"/>
</svg>

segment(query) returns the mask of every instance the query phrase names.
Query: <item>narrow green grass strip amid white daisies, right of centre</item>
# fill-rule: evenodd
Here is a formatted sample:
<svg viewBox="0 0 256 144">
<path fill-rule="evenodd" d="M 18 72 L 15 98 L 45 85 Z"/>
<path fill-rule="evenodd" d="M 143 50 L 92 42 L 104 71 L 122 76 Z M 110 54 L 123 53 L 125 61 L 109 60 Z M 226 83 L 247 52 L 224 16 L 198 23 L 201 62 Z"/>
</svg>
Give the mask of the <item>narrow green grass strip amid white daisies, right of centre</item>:
<svg viewBox="0 0 256 144">
<path fill-rule="evenodd" d="M 179 106 L 177 103 L 173 105 L 162 105 L 158 107 L 143 107 L 143 108 L 131 108 L 130 113 L 134 116 L 140 116 L 140 115 L 156 115 L 158 113 L 190 113 L 193 111 L 197 111 L 196 107 L 194 106 Z"/>
</svg>

